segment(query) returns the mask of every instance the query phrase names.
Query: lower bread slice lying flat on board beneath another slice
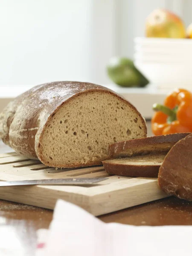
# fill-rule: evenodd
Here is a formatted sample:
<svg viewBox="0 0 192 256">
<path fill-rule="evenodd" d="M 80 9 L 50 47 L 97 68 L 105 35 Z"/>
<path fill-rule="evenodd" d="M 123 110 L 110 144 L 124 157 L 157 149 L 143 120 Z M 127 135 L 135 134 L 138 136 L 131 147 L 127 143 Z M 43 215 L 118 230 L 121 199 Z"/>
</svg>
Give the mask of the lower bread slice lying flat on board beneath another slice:
<svg viewBox="0 0 192 256">
<path fill-rule="evenodd" d="M 103 161 L 109 174 L 132 177 L 158 177 L 160 166 L 167 152 L 152 153 Z"/>
</svg>

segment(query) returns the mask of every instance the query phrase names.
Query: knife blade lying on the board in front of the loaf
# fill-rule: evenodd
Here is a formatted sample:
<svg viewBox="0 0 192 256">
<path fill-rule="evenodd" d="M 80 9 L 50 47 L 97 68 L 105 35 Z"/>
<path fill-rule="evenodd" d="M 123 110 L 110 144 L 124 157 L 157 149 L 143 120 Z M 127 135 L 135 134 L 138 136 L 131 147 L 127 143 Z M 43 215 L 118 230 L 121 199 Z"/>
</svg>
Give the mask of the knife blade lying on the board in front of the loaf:
<svg viewBox="0 0 192 256">
<path fill-rule="evenodd" d="M 25 186 L 25 185 L 91 185 L 107 179 L 108 178 L 95 177 L 95 178 L 67 178 L 67 179 L 48 179 L 48 180 L 0 181 L 0 187 Z"/>
</svg>

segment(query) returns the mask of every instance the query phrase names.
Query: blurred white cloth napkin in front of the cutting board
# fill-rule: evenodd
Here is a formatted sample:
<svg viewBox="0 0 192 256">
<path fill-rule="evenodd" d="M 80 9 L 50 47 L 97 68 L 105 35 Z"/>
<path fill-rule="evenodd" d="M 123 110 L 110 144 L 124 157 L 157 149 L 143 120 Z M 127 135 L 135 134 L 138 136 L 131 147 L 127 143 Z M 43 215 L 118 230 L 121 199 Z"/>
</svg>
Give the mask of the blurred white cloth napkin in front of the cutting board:
<svg viewBox="0 0 192 256">
<path fill-rule="evenodd" d="M 191 236 L 192 226 L 105 224 L 58 200 L 49 230 L 38 231 L 37 256 L 191 256 Z"/>
</svg>

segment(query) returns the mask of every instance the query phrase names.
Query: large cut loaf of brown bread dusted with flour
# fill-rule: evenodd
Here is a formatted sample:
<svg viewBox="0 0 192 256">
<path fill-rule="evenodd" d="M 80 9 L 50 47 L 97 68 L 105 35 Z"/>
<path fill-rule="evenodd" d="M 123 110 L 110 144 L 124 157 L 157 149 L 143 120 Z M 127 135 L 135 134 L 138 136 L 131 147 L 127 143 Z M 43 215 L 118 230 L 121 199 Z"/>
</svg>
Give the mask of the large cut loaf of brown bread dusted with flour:
<svg viewBox="0 0 192 256">
<path fill-rule="evenodd" d="M 17 153 L 52 167 L 101 164 L 108 145 L 146 137 L 143 117 L 113 91 L 53 82 L 18 96 L 0 114 L 0 137 Z"/>
</svg>

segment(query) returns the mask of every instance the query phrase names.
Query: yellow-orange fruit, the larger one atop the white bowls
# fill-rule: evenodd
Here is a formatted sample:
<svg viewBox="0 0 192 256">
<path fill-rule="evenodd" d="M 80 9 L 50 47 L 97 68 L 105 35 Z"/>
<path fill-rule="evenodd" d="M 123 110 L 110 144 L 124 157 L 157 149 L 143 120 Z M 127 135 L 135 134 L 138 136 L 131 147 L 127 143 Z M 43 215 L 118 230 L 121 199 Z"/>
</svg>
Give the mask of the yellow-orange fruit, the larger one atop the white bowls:
<svg viewBox="0 0 192 256">
<path fill-rule="evenodd" d="M 154 38 L 185 38 L 183 21 L 172 12 L 156 9 L 147 17 L 145 35 Z"/>
</svg>

